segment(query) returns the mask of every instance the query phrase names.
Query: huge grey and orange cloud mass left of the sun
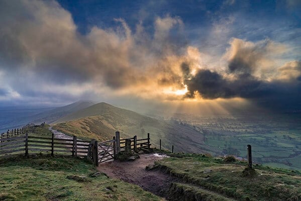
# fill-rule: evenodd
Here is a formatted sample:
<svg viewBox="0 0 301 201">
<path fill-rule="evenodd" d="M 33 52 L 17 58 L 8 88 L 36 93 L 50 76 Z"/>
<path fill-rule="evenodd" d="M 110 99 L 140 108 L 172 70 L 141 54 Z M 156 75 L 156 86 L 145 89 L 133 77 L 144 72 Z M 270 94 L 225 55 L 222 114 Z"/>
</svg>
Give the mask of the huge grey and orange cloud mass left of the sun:
<svg viewBox="0 0 301 201">
<path fill-rule="evenodd" d="M 81 35 L 57 2 L 1 4 L 0 65 L 9 73 L 24 73 L 37 83 L 98 82 L 115 89 L 179 81 L 168 63 L 181 51 L 169 37 L 183 26 L 178 18 L 157 18 L 153 37 L 139 25 L 133 34 L 122 19 L 116 19 L 115 30 L 92 27 Z M 27 84 L 12 85 L 24 89 Z"/>
</svg>

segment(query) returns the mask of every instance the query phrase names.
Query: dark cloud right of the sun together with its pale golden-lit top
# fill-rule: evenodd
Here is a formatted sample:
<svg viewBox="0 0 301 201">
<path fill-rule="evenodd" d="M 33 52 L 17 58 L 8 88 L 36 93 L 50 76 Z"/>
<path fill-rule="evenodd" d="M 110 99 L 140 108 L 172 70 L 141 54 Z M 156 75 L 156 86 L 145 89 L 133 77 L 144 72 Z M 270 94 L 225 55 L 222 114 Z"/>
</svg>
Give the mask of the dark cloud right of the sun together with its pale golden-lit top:
<svg viewBox="0 0 301 201">
<path fill-rule="evenodd" d="M 208 99 L 242 97 L 265 107 L 272 104 L 288 108 L 287 104 L 293 102 L 289 107 L 298 108 L 298 103 L 301 103 L 298 92 L 301 90 L 300 61 L 285 63 L 278 67 L 280 73 L 274 72 L 273 76 L 266 77 L 266 73 L 276 69 L 271 65 L 270 54 L 281 54 L 284 48 L 271 41 L 250 43 L 234 39 L 226 53 L 229 58 L 226 72 L 199 69 L 192 76 L 189 66 L 183 63 L 184 84 L 188 89 L 185 97 L 194 98 L 196 94 Z"/>
</svg>

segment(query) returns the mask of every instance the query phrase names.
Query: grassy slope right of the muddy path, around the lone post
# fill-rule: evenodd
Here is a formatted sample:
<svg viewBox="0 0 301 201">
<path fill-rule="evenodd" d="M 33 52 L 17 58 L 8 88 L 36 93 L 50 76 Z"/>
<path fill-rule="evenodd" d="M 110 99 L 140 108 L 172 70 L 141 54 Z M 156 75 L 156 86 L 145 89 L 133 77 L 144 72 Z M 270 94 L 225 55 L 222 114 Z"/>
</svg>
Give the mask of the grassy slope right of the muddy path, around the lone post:
<svg viewBox="0 0 301 201">
<path fill-rule="evenodd" d="M 157 162 L 157 167 L 182 178 L 188 184 L 174 183 L 170 197 L 180 194 L 191 200 L 300 200 L 301 173 L 255 166 L 253 176 L 243 176 L 246 163 L 225 162 L 205 155 L 174 154 Z M 179 195 L 178 195 L 179 194 Z"/>
</svg>

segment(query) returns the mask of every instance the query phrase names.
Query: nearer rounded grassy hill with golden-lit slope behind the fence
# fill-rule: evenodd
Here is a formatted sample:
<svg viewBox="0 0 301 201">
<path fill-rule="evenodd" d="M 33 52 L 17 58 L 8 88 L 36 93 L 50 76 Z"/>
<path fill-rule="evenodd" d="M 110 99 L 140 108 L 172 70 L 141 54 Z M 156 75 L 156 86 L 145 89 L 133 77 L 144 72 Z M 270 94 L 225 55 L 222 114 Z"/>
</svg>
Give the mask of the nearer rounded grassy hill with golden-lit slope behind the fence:
<svg viewBox="0 0 301 201">
<path fill-rule="evenodd" d="M 53 124 L 53 128 L 70 135 L 78 135 L 98 140 L 112 139 L 116 131 L 121 137 L 145 138 L 151 134 L 151 143 L 171 150 L 174 145 L 178 152 L 210 152 L 203 142 L 202 133 L 190 126 L 172 121 L 159 121 L 133 111 L 99 103 L 67 115 Z"/>
</svg>

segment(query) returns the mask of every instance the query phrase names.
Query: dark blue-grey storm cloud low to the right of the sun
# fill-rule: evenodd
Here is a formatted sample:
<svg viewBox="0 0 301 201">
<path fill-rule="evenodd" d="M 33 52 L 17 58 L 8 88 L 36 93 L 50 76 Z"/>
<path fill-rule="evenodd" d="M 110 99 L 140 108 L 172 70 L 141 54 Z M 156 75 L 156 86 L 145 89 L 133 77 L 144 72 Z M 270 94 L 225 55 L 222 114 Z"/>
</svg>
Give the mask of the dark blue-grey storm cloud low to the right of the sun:
<svg viewBox="0 0 301 201">
<path fill-rule="evenodd" d="M 298 62 L 300 63 L 300 62 Z M 233 63 L 231 63 L 233 65 Z M 236 63 L 240 65 L 240 63 Z M 245 65 L 244 63 L 242 65 Z M 244 68 L 241 68 L 244 69 Z M 242 97 L 254 104 L 272 110 L 301 109 L 301 70 L 297 67 L 284 67 L 281 71 L 294 70 L 299 73 L 290 80 L 265 81 L 242 71 L 236 72 L 235 79 L 208 69 L 200 69 L 194 76 L 184 80 L 188 92 L 187 98 L 195 97 L 199 93 L 205 99 Z M 187 74 L 183 71 L 183 74 Z"/>
</svg>

